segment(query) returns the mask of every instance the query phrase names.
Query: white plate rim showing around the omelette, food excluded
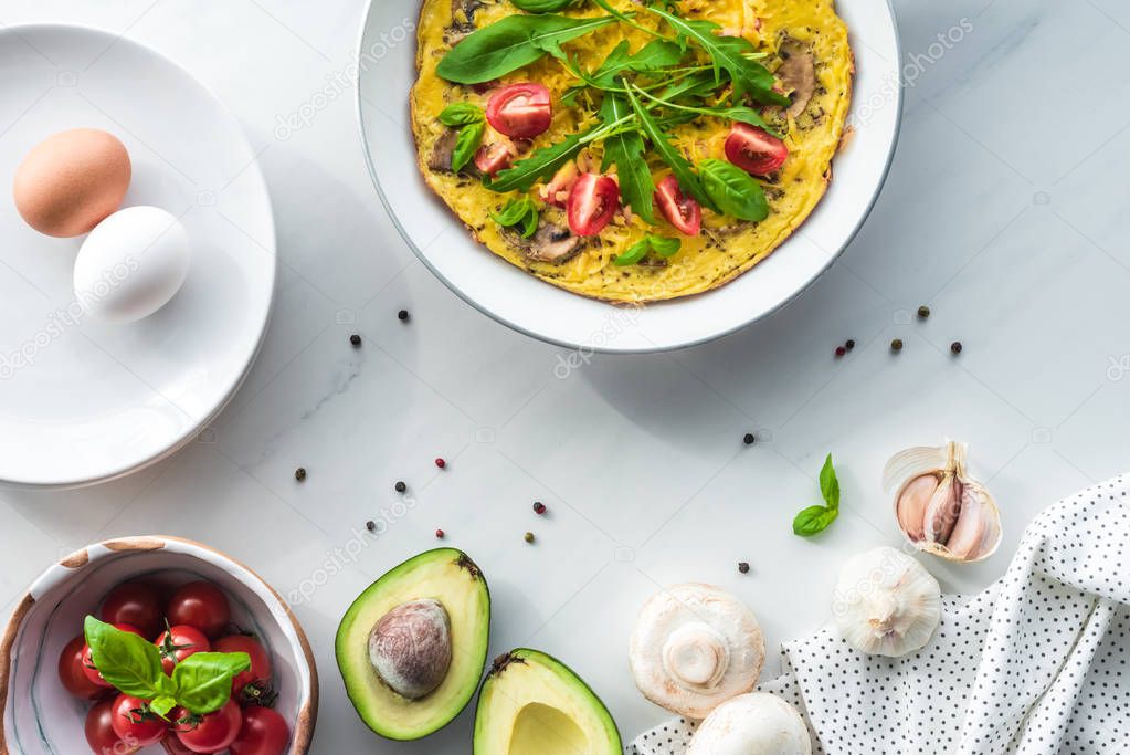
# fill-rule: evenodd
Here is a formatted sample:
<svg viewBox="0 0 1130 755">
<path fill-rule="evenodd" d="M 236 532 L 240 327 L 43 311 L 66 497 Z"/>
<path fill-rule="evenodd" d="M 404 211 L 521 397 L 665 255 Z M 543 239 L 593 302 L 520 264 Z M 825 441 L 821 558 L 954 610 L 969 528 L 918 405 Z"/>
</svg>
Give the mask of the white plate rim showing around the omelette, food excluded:
<svg viewBox="0 0 1130 755">
<path fill-rule="evenodd" d="M 471 240 L 416 168 L 408 96 L 416 78 L 419 0 L 371 0 L 362 34 L 362 141 L 381 199 L 409 246 L 455 294 L 521 332 L 572 348 L 659 352 L 712 340 L 772 313 L 820 276 L 870 211 L 902 119 L 898 35 L 892 9 L 838 0 L 852 32 L 857 132 L 835 160 L 824 201 L 765 262 L 718 290 L 643 309 L 585 300 L 519 270 Z"/>
</svg>

